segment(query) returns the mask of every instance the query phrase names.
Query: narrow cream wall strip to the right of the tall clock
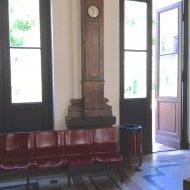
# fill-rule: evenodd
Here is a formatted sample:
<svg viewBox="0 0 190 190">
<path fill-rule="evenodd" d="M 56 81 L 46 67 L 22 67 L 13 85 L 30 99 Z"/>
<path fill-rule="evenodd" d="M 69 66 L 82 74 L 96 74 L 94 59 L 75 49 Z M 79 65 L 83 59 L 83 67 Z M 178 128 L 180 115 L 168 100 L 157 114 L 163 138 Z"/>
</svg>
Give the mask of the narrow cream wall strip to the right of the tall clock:
<svg viewBox="0 0 190 190">
<path fill-rule="evenodd" d="M 104 0 L 104 79 L 105 97 L 109 99 L 119 125 L 119 0 Z"/>
</svg>

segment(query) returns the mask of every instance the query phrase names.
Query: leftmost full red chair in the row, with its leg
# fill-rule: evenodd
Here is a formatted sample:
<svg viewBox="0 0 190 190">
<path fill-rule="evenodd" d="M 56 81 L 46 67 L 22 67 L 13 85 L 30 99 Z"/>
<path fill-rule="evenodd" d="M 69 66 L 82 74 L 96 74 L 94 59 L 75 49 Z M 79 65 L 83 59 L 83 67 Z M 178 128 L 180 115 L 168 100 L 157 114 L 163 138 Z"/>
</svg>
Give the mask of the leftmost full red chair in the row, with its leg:
<svg viewBox="0 0 190 190">
<path fill-rule="evenodd" d="M 32 133 L 7 133 L 4 138 L 5 149 L 3 162 L 1 163 L 1 170 L 25 170 L 27 172 L 27 189 L 29 189 Z"/>
</svg>

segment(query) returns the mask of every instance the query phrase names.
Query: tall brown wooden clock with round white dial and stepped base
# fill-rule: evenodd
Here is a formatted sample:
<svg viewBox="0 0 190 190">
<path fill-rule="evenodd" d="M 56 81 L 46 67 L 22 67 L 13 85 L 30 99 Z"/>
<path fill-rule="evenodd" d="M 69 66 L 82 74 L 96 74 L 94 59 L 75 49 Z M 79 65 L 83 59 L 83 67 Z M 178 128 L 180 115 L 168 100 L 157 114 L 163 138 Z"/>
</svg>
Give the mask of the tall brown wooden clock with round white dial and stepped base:
<svg viewBox="0 0 190 190">
<path fill-rule="evenodd" d="M 103 0 L 81 0 L 82 99 L 71 100 L 68 128 L 112 126 L 116 118 L 104 98 Z"/>
</svg>

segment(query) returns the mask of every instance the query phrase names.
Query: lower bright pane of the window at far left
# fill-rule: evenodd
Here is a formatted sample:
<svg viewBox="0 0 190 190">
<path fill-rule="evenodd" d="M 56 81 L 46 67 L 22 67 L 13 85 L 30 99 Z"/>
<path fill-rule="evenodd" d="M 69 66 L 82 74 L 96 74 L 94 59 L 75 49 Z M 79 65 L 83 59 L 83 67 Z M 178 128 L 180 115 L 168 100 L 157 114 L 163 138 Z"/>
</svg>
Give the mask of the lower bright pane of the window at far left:
<svg viewBox="0 0 190 190">
<path fill-rule="evenodd" d="M 12 103 L 41 102 L 40 50 L 10 50 Z"/>
</svg>

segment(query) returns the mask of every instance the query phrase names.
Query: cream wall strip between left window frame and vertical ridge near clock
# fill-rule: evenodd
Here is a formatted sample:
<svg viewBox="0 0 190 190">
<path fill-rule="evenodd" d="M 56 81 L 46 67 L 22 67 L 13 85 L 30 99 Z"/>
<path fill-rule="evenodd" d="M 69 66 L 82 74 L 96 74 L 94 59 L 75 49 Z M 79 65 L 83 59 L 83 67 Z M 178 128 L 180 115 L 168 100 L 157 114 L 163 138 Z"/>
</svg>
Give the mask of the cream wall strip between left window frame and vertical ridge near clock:
<svg viewBox="0 0 190 190">
<path fill-rule="evenodd" d="M 71 10 L 71 0 L 52 0 L 54 129 L 65 127 L 66 108 L 74 91 Z"/>
</svg>

